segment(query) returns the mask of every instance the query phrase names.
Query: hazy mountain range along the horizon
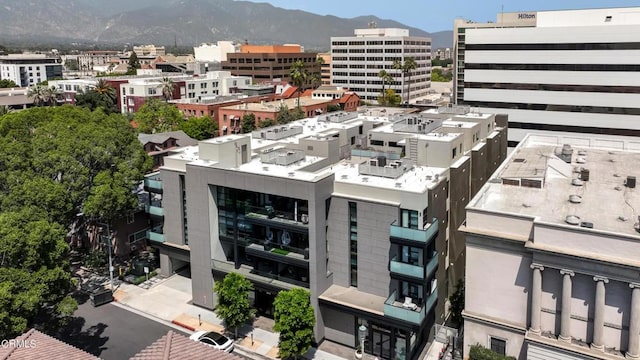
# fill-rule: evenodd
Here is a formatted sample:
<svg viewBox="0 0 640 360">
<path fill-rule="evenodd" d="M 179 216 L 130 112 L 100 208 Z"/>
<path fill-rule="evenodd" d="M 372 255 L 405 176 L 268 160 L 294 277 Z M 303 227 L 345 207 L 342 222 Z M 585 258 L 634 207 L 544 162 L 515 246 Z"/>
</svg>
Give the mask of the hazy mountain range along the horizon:
<svg viewBox="0 0 640 360">
<path fill-rule="evenodd" d="M 0 0 L 0 44 L 41 41 L 85 44 L 192 46 L 235 40 L 298 43 L 328 50 L 331 36 L 349 36 L 375 22 L 431 36 L 432 47 L 451 47 L 452 32 L 429 34 L 375 16 L 340 18 L 267 3 L 236 0 Z"/>
</svg>

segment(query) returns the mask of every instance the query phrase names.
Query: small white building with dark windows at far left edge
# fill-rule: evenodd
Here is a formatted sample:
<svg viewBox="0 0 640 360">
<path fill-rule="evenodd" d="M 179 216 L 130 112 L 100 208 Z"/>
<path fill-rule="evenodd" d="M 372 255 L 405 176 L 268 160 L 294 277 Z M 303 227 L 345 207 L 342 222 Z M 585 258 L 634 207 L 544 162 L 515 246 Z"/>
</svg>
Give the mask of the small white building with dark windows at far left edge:
<svg viewBox="0 0 640 360">
<path fill-rule="evenodd" d="M 0 80 L 13 80 L 18 87 L 29 87 L 45 80 L 62 79 L 59 57 L 44 54 L 0 56 Z"/>
</svg>

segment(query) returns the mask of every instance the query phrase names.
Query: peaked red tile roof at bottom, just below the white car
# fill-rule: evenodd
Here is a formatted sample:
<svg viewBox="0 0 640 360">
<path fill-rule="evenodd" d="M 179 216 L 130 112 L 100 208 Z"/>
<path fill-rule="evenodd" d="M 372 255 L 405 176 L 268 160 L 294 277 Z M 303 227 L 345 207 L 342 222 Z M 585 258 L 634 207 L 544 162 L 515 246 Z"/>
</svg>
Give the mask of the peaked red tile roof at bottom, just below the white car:
<svg viewBox="0 0 640 360">
<path fill-rule="evenodd" d="M 241 357 L 227 354 L 186 336 L 169 331 L 153 344 L 137 353 L 131 360 L 242 360 Z"/>
</svg>

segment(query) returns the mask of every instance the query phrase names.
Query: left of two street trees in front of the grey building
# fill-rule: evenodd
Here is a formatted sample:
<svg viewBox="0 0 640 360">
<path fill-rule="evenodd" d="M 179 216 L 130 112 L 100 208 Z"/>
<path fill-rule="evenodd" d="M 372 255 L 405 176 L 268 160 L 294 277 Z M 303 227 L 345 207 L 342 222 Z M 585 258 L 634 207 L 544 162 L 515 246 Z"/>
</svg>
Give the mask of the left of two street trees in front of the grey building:
<svg viewBox="0 0 640 360">
<path fill-rule="evenodd" d="M 222 281 L 216 281 L 213 290 L 218 296 L 214 311 L 224 321 L 227 329 L 233 328 L 238 337 L 238 327 L 252 320 L 256 310 L 251 308 L 249 292 L 253 284 L 238 273 L 228 273 Z"/>
</svg>

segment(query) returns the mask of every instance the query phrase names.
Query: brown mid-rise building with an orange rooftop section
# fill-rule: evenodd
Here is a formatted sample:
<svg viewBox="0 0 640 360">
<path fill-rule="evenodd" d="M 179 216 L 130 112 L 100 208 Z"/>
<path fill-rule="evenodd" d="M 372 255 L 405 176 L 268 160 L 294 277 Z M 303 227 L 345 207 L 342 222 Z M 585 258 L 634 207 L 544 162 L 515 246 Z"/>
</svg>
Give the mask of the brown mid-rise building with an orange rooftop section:
<svg viewBox="0 0 640 360">
<path fill-rule="evenodd" d="M 226 61 L 222 61 L 222 70 L 230 71 L 237 76 L 251 76 L 256 83 L 281 80 L 291 82 L 289 72 L 291 65 L 300 60 L 311 74 L 320 73 L 320 64 L 316 58 L 318 53 L 303 52 L 300 45 L 249 45 L 244 44 L 240 52 L 227 53 Z M 307 89 L 312 86 L 309 81 L 303 85 Z"/>
</svg>

